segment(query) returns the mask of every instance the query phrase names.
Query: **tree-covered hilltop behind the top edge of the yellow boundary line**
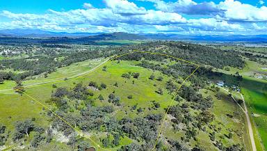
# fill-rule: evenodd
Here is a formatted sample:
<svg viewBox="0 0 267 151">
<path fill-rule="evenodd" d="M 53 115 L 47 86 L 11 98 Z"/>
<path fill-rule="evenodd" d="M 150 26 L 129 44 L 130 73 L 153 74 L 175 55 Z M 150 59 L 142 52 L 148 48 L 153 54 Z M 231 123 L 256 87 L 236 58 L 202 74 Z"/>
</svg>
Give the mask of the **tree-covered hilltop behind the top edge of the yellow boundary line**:
<svg viewBox="0 0 267 151">
<path fill-rule="evenodd" d="M 245 66 L 240 54 L 236 51 L 214 49 L 212 47 L 186 42 L 154 41 L 140 45 L 124 46 L 124 49 L 159 52 L 182 58 L 186 61 L 192 61 L 193 63 L 200 63 L 201 65 L 209 65 L 221 69 L 226 66 L 241 68 Z M 139 54 L 139 56 L 134 57 L 140 58 L 142 56 Z"/>
</svg>

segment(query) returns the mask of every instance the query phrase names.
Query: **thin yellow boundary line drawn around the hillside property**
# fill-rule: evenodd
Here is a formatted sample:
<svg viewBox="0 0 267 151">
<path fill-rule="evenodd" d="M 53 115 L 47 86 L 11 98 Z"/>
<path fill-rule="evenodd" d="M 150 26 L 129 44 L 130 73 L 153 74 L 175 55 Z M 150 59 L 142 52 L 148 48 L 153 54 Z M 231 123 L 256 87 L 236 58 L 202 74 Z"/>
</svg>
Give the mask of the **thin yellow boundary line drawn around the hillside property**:
<svg viewBox="0 0 267 151">
<path fill-rule="evenodd" d="M 95 68 L 95 70 L 92 70 L 92 72 L 95 72 L 95 71 L 98 70 L 100 67 L 102 67 L 103 65 L 106 65 L 107 63 L 109 63 L 109 62 L 115 60 L 116 58 L 120 58 L 121 56 L 125 56 L 125 55 L 127 55 L 127 54 L 133 54 L 134 52 L 140 52 L 140 53 L 145 53 L 145 54 L 156 54 L 156 55 L 160 55 L 160 56 L 168 56 L 168 57 L 170 57 L 170 58 L 175 58 L 175 59 L 177 59 L 178 61 L 184 61 L 184 62 L 186 62 L 186 63 L 190 63 L 190 64 L 192 64 L 192 65 L 197 65 L 197 64 L 195 64 L 195 63 L 192 63 L 192 62 L 190 62 L 190 61 L 186 61 L 186 60 L 181 59 L 181 58 L 177 58 L 177 57 L 174 57 L 174 56 L 169 56 L 168 54 L 160 54 L 160 53 L 149 52 L 149 51 L 138 51 L 138 50 L 133 50 L 133 52 L 129 52 L 129 53 L 122 54 L 122 55 L 120 55 L 120 56 L 115 56 L 114 58 L 110 58 L 110 59 L 108 59 L 108 61 L 106 61 L 106 63 L 104 63 L 104 64 L 102 64 L 102 65 L 99 65 L 98 67 Z M 177 93 L 178 93 L 178 91 L 180 90 L 181 86 L 184 85 L 185 81 L 186 81 L 187 79 L 189 79 L 189 78 L 195 73 L 195 71 L 197 71 L 197 69 L 198 69 L 199 67 L 200 67 L 200 65 L 197 65 L 197 67 L 195 68 L 195 70 L 194 70 L 188 77 L 186 77 L 186 79 L 184 79 L 184 81 L 182 81 L 181 85 L 179 86 L 179 88 L 178 88 L 177 91 L 176 91 Z M 91 74 L 92 72 L 88 72 L 88 73 L 83 74 L 83 75 L 81 75 L 81 76 L 79 76 L 79 77 L 75 77 L 75 78 L 72 78 L 72 79 L 68 79 L 67 81 L 69 81 L 69 80 L 79 79 L 79 78 L 81 78 L 81 77 L 85 77 L 86 75 Z M 40 84 L 40 85 L 35 85 L 35 86 L 29 86 L 29 87 L 26 87 L 26 88 L 34 88 L 34 87 L 38 87 L 38 86 L 45 86 L 45 85 L 48 85 L 48 84 L 49 84 L 49 85 L 50 85 L 50 84 L 56 84 L 56 83 L 60 83 L 60 82 L 63 82 L 63 81 L 65 81 L 65 80 L 54 81 L 54 82 L 51 82 L 51 83 L 47 82 L 47 83 L 45 83 L 45 84 Z M 58 116 L 58 114 L 56 114 L 54 111 L 52 111 L 51 109 L 49 109 L 49 107 L 46 106 L 45 104 L 42 104 L 42 102 L 36 100 L 35 98 L 31 97 L 31 96 L 28 95 L 27 93 L 24 93 L 24 92 L 22 92 L 22 91 L 21 91 L 21 93 L 23 93 L 24 95 L 30 97 L 33 101 L 37 102 L 38 104 L 40 104 L 41 106 L 43 106 L 45 109 L 51 111 L 51 113 L 53 113 L 56 117 L 58 117 L 60 120 L 62 120 L 63 122 L 65 122 L 67 125 L 69 125 L 69 126 L 70 126 L 72 129 L 74 129 L 74 131 L 77 132 L 80 136 L 83 136 L 83 137 L 85 137 L 85 138 L 88 138 L 92 143 L 94 143 L 94 144 L 97 146 L 97 148 L 102 149 L 102 150 L 108 150 L 108 149 L 102 148 L 98 143 L 96 143 L 95 141 L 93 141 L 92 138 L 90 138 L 90 136 L 87 136 L 87 135 L 83 134 L 83 132 L 81 132 L 79 129 L 76 129 L 75 127 L 73 127 L 69 122 L 67 122 L 67 120 L 65 120 L 64 118 L 61 118 L 60 116 Z M 175 95 L 175 97 L 176 97 L 176 96 L 177 96 L 177 95 Z M 161 122 L 161 127 L 160 127 L 160 129 L 159 129 L 159 134 L 158 134 L 158 136 L 156 137 L 156 142 L 155 142 L 155 144 L 154 144 L 154 148 L 152 148 L 152 150 L 154 150 L 154 149 L 156 148 L 156 144 L 157 144 L 158 141 L 159 141 L 159 137 L 160 137 L 161 132 L 162 132 L 162 129 L 163 129 L 163 124 L 164 124 L 164 122 L 166 121 L 166 118 L 167 118 L 167 115 L 168 115 L 168 111 L 170 110 L 170 107 L 172 106 L 173 102 L 174 102 L 174 100 L 172 100 L 172 102 L 170 102 L 170 105 L 168 106 L 168 109 L 167 109 L 167 111 L 166 111 L 166 113 L 165 113 L 165 116 L 164 116 L 164 118 L 163 118 L 163 122 Z M 94 146 L 92 146 L 92 147 L 94 147 Z M 95 148 L 95 147 L 94 147 L 94 148 Z M 109 150 L 108 150 L 108 151 L 109 151 Z"/>
</svg>

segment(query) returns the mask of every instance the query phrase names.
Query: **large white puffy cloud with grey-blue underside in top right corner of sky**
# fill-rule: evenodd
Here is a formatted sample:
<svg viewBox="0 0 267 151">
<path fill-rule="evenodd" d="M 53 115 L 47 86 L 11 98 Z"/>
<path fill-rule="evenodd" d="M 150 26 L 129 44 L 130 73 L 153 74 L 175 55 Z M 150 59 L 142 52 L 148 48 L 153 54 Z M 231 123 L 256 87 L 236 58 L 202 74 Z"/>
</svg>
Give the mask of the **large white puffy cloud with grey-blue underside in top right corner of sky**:
<svg viewBox="0 0 267 151">
<path fill-rule="evenodd" d="M 193 0 L 178 0 L 166 3 L 163 0 L 151 1 L 163 12 L 184 13 L 187 15 L 211 15 L 230 22 L 267 22 L 267 7 L 252 6 L 236 0 L 225 0 L 216 4 L 211 2 L 196 3 Z M 259 1 L 261 5 L 264 1 Z"/>
</svg>

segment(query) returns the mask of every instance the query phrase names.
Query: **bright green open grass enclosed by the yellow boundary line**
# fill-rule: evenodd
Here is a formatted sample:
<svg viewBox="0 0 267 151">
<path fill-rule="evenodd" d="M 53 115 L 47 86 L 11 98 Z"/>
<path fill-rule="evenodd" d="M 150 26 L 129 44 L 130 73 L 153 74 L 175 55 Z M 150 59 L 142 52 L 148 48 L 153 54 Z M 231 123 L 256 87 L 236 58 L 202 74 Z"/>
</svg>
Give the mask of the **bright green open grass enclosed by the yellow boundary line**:
<svg viewBox="0 0 267 151">
<path fill-rule="evenodd" d="M 108 95 L 115 91 L 115 95 L 120 96 L 120 100 L 122 100 L 122 106 L 124 106 L 122 109 L 118 107 L 118 109 L 116 109 L 115 117 L 118 119 L 122 119 L 124 117 L 136 118 L 138 116 L 147 115 L 149 113 L 148 107 L 149 104 L 152 105 L 152 100 L 156 100 L 156 102 L 159 102 L 161 104 L 161 108 L 154 112 L 162 114 L 165 113 L 164 108 L 170 104 L 172 95 L 168 95 L 168 92 L 166 90 L 164 90 L 163 95 L 155 93 L 158 87 L 155 87 L 153 85 L 157 84 L 159 87 L 164 87 L 164 83 L 168 80 L 168 77 L 161 74 L 161 76 L 164 77 L 163 81 L 150 81 L 148 77 L 152 74 L 152 71 L 147 71 L 143 67 L 129 65 L 129 63 L 124 63 L 123 61 L 121 61 L 120 64 L 112 62 L 106 66 L 107 72 L 103 72 L 101 69 L 99 69 L 81 79 L 65 81 L 56 84 L 56 86 L 70 88 L 79 83 L 87 84 L 90 81 L 96 81 L 98 84 L 100 82 L 106 84 L 107 88 L 94 92 L 94 97 L 92 97 L 91 99 L 96 100 L 95 106 L 110 104 L 107 102 Z M 138 79 L 124 79 L 121 77 L 121 75 L 125 72 L 139 72 L 140 77 L 138 77 Z M 159 72 L 154 72 L 154 74 L 156 77 L 160 75 Z M 118 87 L 114 86 L 116 82 L 118 83 Z M 49 100 L 49 98 L 51 97 L 51 90 L 54 89 L 55 88 L 52 88 L 51 84 L 49 84 L 35 88 L 27 88 L 26 93 L 34 98 L 37 98 L 40 102 L 45 103 L 45 101 Z M 106 101 L 97 101 L 99 94 L 102 94 Z M 127 98 L 129 95 L 133 96 L 131 100 Z M 131 108 L 136 104 L 136 108 L 142 108 L 143 113 L 137 114 L 137 111 L 131 110 Z M 92 136 L 92 138 L 95 138 L 95 141 L 98 144 L 101 144 L 99 137 Z M 127 145 L 131 143 L 131 141 L 129 141 L 128 139 L 122 139 L 120 143 Z M 120 148 L 120 146 L 118 148 Z M 115 149 L 113 148 L 113 150 Z"/>
</svg>

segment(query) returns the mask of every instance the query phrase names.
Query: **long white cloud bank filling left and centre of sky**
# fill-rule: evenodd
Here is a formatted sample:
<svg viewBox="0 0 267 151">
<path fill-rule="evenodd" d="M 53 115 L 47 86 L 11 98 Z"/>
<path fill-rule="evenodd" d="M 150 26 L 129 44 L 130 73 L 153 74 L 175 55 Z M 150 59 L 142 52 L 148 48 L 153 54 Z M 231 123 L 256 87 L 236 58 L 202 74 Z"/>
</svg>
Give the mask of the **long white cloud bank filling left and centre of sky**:
<svg viewBox="0 0 267 151">
<path fill-rule="evenodd" d="M 122 3 L 119 5 L 118 2 Z M 106 0 L 106 8 L 69 11 L 49 10 L 48 13 L 43 15 L 11 13 L 4 10 L 1 15 L 14 20 L 40 22 L 40 24 L 45 22 L 59 26 L 74 26 L 76 24 L 118 26 L 118 23 L 164 25 L 186 22 L 186 19 L 177 13 L 145 10 L 145 8 L 139 8 L 136 4 L 124 0 Z"/>
</svg>

